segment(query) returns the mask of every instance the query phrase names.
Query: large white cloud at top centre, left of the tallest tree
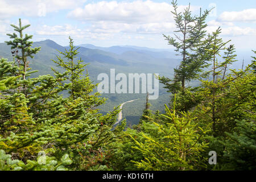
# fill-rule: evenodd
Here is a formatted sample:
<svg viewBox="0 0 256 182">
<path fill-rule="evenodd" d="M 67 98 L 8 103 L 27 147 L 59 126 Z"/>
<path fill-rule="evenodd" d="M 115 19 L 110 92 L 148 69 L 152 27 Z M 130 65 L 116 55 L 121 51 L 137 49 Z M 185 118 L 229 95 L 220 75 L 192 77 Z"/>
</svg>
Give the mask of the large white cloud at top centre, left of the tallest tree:
<svg viewBox="0 0 256 182">
<path fill-rule="evenodd" d="M 179 5 L 178 11 L 183 11 L 186 7 Z M 191 6 L 191 11 L 199 9 L 199 6 Z M 175 28 L 171 10 L 172 5 L 166 2 L 100 1 L 88 3 L 84 8 L 77 7 L 68 17 L 87 24 L 89 22 L 90 25 L 85 29 L 93 34 L 166 34 L 173 32 Z"/>
</svg>

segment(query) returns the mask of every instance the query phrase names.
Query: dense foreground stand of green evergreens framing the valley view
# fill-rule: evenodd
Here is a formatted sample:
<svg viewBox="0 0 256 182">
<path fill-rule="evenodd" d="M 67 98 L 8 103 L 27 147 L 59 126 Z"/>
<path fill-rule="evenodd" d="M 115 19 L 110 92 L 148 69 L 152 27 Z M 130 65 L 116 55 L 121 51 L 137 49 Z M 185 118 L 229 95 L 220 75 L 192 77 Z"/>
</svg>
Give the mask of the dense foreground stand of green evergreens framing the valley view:
<svg viewBox="0 0 256 182">
<path fill-rule="evenodd" d="M 72 38 L 51 60 L 52 72 L 36 75 L 30 63 L 40 47 L 24 34 L 30 25 L 11 24 L 13 60 L 0 58 L 0 170 L 255 170 L 256 51 L 249 65 L 229 69 L 236 49 L 221 28 L 205 30 L 210 10 L 192 15 L 172 6 L 175 36 L 163 36 L 181 61 L 174 77 L 158 77 L 169 100 L 151 110 L 146 97 L 130 126 L 126 119 L 114 126 L 118 105 L 100 112 L 106 98 Z"/>
</svg>

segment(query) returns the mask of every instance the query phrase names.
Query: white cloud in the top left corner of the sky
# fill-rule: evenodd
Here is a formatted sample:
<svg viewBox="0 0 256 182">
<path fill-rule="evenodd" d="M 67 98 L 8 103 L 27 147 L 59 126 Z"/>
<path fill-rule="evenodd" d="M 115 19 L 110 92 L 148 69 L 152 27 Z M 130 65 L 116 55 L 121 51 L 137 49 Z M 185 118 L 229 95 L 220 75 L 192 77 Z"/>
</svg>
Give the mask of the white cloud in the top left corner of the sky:
<svg viewBox="0 0 256 182">
<path fill-rule="evenodd" d="M 0 0 L 0 19 L 12 16 L 44 16 L 43 14 L 64 9 L 75 9 L 86 0 Z"/>
</svg>

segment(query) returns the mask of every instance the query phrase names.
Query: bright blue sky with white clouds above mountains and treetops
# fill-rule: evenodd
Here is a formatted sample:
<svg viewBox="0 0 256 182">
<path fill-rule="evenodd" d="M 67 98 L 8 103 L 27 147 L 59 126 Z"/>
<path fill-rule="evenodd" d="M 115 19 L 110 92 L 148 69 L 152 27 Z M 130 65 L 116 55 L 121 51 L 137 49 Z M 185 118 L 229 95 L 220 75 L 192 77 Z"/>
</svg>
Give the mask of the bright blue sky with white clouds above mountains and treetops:
<svg viewBox="0 0 256 182">
<path fill-rule="evenodd" d="M 191 3 L 192 14 L 211 9 L 207 31 L 222 28 L 221 37 L 237 49 L 256 48 L 255 0 L 178 0 L 179 11 Z M 26 34 L 33 41 L 51 39 L 79 44 L 170 48 L 164 35 L 174 36 L 171 0 L 0 0 L 0 42 L 9 40 L 10 24 L 31 24 Z"/>
</svg>

